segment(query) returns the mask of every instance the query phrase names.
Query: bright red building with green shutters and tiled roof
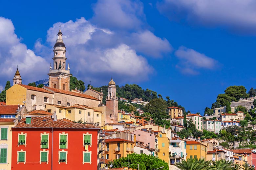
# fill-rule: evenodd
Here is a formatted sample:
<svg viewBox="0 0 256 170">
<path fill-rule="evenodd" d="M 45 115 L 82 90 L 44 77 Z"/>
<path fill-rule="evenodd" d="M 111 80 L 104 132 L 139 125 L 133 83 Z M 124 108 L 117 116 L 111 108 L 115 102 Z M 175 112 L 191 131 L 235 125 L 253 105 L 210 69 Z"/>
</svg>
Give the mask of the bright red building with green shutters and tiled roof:
<svg viewBox="0 0 256 170">
<path fill-rule="evenodd" d="M 12 127 L 11 169 L 97 169 L 99 128 L 26 116 Z"/>
</svg>

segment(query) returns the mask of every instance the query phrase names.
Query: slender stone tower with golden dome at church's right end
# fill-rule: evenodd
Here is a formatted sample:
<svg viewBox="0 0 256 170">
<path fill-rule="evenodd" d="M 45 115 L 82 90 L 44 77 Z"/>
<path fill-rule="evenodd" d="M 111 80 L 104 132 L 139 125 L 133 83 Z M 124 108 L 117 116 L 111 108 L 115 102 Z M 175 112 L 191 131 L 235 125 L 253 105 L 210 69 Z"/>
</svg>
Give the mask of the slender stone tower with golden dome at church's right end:
<svg viewBox="0 0 256 170">
<path fill-rule="evenodd" d="M 108 83 L 108 96 L 106 97 L 106 122 L 105 123 L 117 123 L 118 122 L 118 98 L 116 95 L 116 83 L 111 77 Z"/>
</svg>

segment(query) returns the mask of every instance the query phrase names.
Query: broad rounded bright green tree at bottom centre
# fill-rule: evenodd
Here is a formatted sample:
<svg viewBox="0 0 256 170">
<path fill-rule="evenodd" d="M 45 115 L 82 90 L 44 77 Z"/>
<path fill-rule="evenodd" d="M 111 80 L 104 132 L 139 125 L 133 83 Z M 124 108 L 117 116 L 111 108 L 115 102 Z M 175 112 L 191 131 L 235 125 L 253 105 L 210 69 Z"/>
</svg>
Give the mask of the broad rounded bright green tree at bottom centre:
<svg viewBox="0 0 256 170">
<path fill-rule="evenodd" d="M 154 170 L 163 166 L 162 170 L 169 170 L 169 165 L 165 161 L 146 154 L 128 154 L 127 157 L 122 157 L 114 160 L 114 167 L 130 167 L 137 169 L 139 164 L 139 170 Z"/>
</svg>

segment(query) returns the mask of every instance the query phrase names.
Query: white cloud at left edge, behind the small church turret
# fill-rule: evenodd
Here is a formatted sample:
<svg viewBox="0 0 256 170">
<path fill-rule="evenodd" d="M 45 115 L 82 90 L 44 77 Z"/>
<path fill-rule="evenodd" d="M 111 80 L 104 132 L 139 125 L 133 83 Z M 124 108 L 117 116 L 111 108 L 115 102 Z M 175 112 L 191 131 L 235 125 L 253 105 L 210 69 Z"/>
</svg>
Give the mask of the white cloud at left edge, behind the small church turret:
<svg viewBox="0 0 256 170">
<path fill-rule="evenodd" d="M 28 83 L 45 77 L 41 73 L 48 71 L 46 60 L 36 56 L 34 52 L 21 43 L 14 32 L 11 20 L 0 17 L 0 84 L 12 81 L 16 72 L 16 65 L 24 82 Z M 12 83 L 12 82 L 11 82 Z"/>
</svg>

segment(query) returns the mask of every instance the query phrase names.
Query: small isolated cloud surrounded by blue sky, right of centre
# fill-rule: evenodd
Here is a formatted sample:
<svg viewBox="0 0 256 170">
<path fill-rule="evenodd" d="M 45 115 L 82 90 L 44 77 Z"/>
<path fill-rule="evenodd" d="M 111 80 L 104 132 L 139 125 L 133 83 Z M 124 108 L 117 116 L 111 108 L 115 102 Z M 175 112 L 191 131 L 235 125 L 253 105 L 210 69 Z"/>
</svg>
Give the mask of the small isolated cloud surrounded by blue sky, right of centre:
<svg viewBox="0 0 256 170">
<path fill-rule="evenodd" d="M 218 63 L 215 59 L 183 46 L 179 47 L 175 52 L 175 56 L 180 59 L 180 63 L 176 65 L 176 68 L 184 74 L 197 75 L 199 74 L 199 69 L 212 70 L 217 67 Z M 183 67 L 180 67 L 180 65 Z"/>
</svg>

